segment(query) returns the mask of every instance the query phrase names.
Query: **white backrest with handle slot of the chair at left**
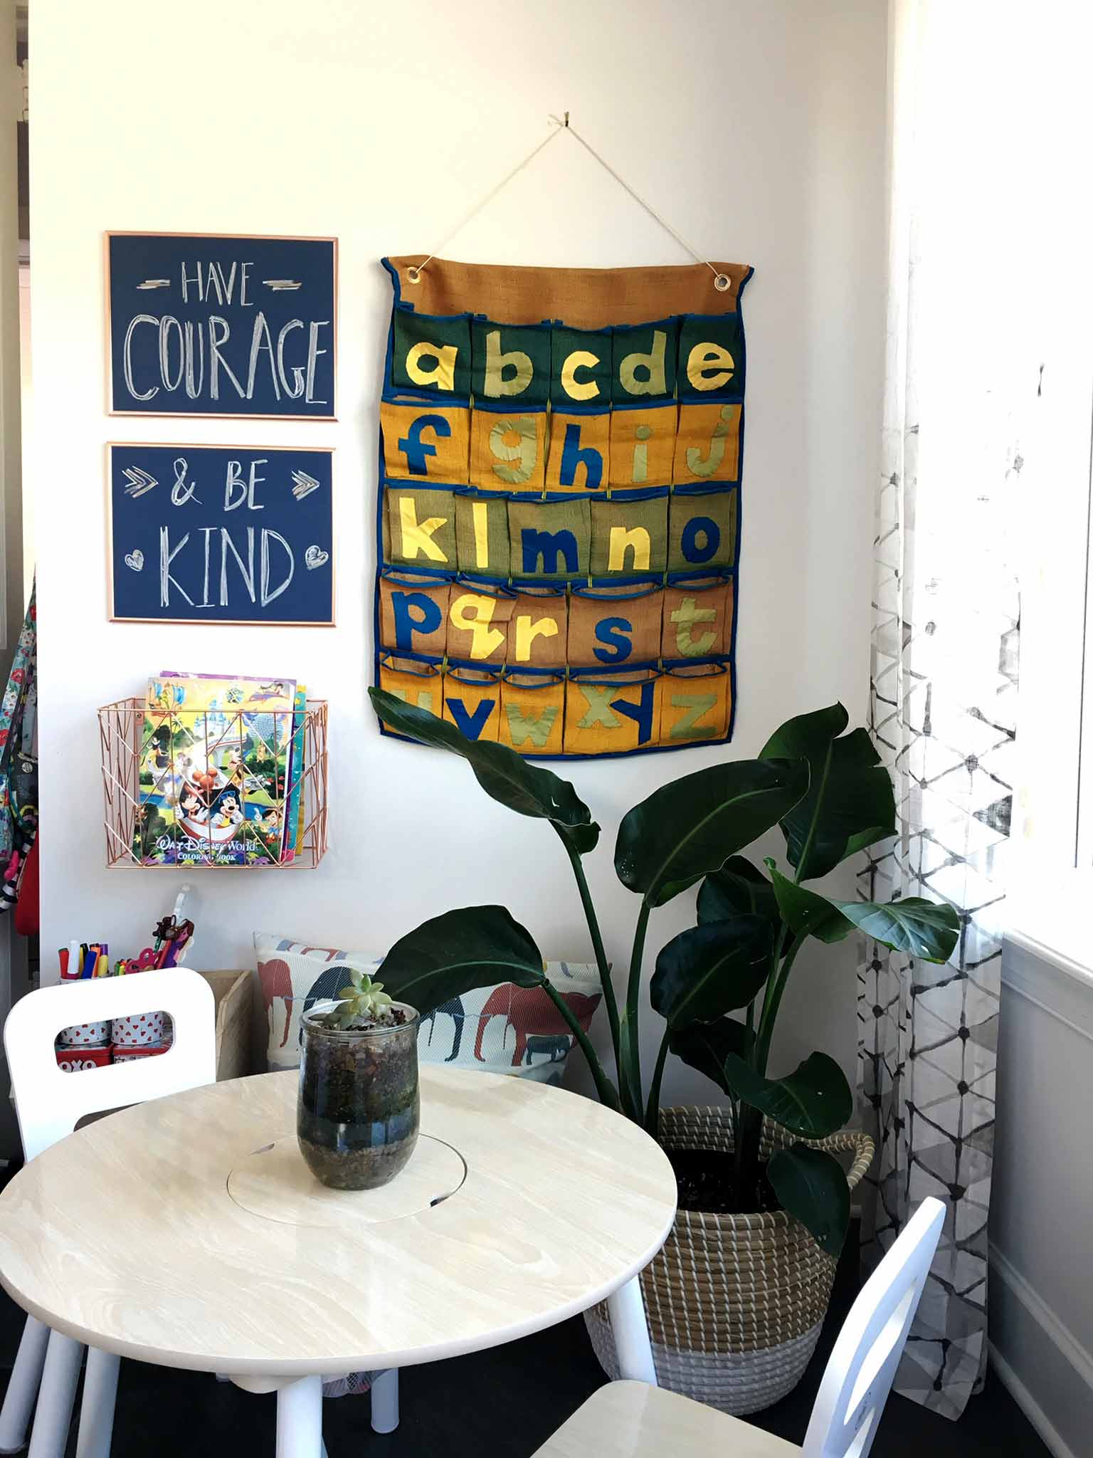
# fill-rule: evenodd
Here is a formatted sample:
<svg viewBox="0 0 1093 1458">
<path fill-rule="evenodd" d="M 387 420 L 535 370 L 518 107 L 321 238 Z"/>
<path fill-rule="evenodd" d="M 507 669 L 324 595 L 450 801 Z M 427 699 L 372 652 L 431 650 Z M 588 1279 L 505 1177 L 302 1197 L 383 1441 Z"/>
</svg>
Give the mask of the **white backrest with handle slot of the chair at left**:
<svg viewBox="0 0 1093 1458">
<path fill-rule="evenodd" d="M 146 1012 L 171 1013 L 175 1040 L 166 1053 L 77 1073 L 57 1066 L 61 1028 Z M 216 999 L 185 967 L 42 987 L 9 1012 L 4 1053 L 23 1155 L 34 1159 L 87 1114 L 214 1083 Z"/>
</svg>

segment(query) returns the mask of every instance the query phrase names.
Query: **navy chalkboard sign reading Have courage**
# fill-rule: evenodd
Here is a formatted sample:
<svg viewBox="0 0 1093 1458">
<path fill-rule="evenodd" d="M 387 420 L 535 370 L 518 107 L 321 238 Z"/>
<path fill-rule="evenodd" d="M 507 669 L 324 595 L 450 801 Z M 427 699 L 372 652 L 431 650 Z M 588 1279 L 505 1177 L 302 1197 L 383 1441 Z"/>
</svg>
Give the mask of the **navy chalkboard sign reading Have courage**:
<svg viewBox="0 0 1093 1458">
<path fill-rule="evenodd" d="M 108 233 L 111 413 L 332 420 L 337 246 Z"/>
</svg>

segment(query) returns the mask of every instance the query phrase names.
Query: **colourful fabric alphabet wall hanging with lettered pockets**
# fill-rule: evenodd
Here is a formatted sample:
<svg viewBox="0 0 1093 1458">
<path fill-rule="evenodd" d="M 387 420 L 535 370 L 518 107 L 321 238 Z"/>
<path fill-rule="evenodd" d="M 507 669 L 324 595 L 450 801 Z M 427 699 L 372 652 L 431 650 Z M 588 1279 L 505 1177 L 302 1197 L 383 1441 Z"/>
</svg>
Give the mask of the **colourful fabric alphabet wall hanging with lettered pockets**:
<svg viewBox="0 0 1093 1458">
<path fill-rule="evenodd" d="M 376 681 L 535 758 L 729 739 L 751 267 L 383 265 Z"/>
</svg>

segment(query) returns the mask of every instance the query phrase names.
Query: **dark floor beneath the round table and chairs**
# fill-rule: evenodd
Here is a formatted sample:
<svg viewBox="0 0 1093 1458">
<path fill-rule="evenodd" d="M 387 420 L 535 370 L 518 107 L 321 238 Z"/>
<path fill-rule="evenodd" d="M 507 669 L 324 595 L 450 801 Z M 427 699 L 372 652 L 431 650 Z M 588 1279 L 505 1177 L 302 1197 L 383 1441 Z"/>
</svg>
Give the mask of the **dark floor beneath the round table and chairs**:
<svg viewBox="0 0 1093 1458">
<path fill-rule="evenodd" d="M 848 1242 L 828 1324 L 802 1384 L 749 1422 L 797 1443 L 804 1438 L 831 1341 L 854 1296 L 855 1255 Z M 255 1299 L 261 1301 L 261 1292 Z M 0 1292 L 1 1381 L 12 1369 L 20 1333 L 22 1312 Z M 530 1458 L 603 1381 L 584 1324 L 576 1319 L 477 1356 L 407 1368 L 401 1375 L 402 1423 L 388 1436 L 369 1427 L 367 1397 L 326 1401 L 324 1436 L 329 1458 Z M 147 1458 L 150 1452 L 154 1458 L 273 1458 L 274 1419 L 273 1397 L 252 1397 L 204 1373 L 122 1362 L 112 1458 Z M 76 1423 L 70 1458 L 74 1451 Z M 889 1398 L 873 1454 L 1048 1458 L 1048 1449 L 992 1373 L 959 1423 L 906 1398 Z"/>
</svg>

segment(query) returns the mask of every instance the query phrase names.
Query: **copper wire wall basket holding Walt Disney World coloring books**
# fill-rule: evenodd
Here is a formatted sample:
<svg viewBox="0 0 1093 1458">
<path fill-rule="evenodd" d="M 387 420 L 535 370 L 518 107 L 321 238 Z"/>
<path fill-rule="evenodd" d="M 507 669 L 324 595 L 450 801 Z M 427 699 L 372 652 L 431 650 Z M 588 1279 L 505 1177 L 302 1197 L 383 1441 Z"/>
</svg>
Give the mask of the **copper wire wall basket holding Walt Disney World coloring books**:
<svg viewBox="0 0 1093 1458">
<path fill-rule="evenodd" d="M 259 728 L 254 714 L 242 710 L 213 716 L 179 709 L 156 710 L 154 730 L 163 736 L 156 744 L 143 698 L 120 698 L 99 709 L 108 869 L 312 870 L 319 865 L 326 853 L 324 700 L 307 700 L 302 725 L 290 709 L 267 710 Z M 189 787 L 189 761 L 176 748 L 187 738 L 207 749 L 197 777 L 223 781 L 216 789 L 210 784 L 204 799 Z M 277 745 L 293 739 L 293 757 L 281 774 Z M 162 768 L 154 770 L 150 765 L 157 749 Z M 248 773 L 243 749 L 252 757 L 268 754 L 273 774 Z M 232 764 L 233 751 L 238 755 L 229 780 L 214 767 Z M 184 811 L 187 803 L 194 808 L 191 815 Z M 284 849 L 289 816 L 296 827 L 291 857 Z"/>
</svg>

